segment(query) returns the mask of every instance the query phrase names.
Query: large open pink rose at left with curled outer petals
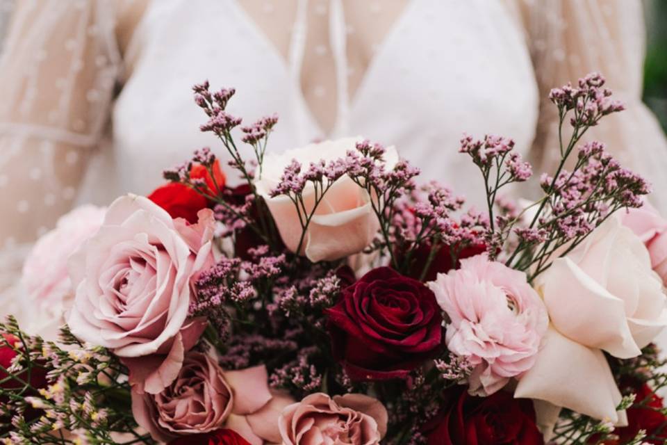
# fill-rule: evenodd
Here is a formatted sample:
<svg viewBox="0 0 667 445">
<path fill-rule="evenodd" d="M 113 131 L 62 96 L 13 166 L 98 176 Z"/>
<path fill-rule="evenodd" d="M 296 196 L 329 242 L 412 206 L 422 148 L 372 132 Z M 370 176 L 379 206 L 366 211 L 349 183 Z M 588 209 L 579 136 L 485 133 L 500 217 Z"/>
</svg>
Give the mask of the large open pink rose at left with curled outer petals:
<svg viewBox="0 0 667 445">
<path fill-rule="evenodd" d="M 188 319 L 188 307 L 199 271 L 213 264 L 214 225 L 210 209 L 188 225 L 127 195 L 70 257 L 76 297 L 69 327 L 121 357 L 138 391 L 156 394 L 169 385 L 206 327 L 204 319 Z"/>
</svg>

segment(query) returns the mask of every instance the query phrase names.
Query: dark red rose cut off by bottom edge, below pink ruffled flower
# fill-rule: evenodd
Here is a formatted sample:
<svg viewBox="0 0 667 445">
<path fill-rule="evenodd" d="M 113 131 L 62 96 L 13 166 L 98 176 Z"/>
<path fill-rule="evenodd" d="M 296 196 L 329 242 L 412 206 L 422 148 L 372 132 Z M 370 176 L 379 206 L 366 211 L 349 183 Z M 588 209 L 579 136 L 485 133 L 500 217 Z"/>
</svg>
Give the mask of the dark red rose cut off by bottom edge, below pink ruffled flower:
<svg viewBox="0 0 667 445">
<path fill-rule="evenodd" d="M 447 392 L 445 408 L 426 424 L 424 433 L 428 445 L 544 444 L 532 401 L 506 391 L 470 396 L 466 387 Z"/>
</svg>

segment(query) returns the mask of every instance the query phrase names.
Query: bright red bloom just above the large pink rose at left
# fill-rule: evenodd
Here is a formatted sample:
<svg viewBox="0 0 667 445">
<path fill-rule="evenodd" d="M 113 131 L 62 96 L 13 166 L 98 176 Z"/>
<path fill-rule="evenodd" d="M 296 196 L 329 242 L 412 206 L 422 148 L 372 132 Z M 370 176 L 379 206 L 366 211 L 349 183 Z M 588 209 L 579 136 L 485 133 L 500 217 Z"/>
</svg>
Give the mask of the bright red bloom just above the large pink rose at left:
<svg viewBox="0 0 667 445">
<path fill-rule="evenodd" d="M 224 173 L 220 170 L 220 163 L 217 159 L 213 163 L 213 175 L 217 186 L 224 186 Z M 201 164 L 193 164 L 190 168 L 190 177 L 193 179 L 204 179 L 206 181 L 207 193 L 216 195 L 215 184 L 211 175 L 208 174 L 206 167 Z M 188 223 L 197 223 L 197 212 L 208 207 L 206 197 L 200 195 L 192 188 L 183 184 L 170 182 L 156 188 L 153 193 L 148 195 L 148 199 L 158 204 L 170 214 L 172 218 L 184 218 Z"/>
</svg>

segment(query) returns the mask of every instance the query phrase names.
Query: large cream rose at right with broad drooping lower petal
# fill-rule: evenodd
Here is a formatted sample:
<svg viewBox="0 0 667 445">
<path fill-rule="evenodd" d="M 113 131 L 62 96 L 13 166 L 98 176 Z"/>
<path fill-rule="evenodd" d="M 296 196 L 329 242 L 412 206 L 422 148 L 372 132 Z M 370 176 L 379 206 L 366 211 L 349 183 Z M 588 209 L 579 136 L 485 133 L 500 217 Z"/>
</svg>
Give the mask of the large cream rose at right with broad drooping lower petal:
<svg viewBox="0 0 667 445">
<path fill-rule="evenodd" d="M 620 391 L 602 351 L 636 357 L 667 325 L 661 280 L 641 239 L 610 218 L 556 259 L 537 289 L 551 326 L 516 397 L 623 423 L 625 413 L 616 412 Z"/>
</svg>

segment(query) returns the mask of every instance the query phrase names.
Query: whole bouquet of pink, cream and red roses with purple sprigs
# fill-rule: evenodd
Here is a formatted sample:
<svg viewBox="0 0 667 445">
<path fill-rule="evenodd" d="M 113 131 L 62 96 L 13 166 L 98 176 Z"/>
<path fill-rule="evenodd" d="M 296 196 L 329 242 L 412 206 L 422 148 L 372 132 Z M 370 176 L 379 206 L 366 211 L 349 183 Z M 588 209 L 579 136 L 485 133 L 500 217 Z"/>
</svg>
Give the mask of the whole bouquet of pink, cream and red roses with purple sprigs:
<svg viewBox="0 0 667 445">
<path fill-rule="evenodd" d="M 550 93 L 534 202 L 511 139 L 463 137 L 484 211 L 363 138 L 267 152 L 275 116 L 194 93 L 240 185 L 200 149 L 38 242 L 24 282 L 67 324 L 0 325 L 4 443 L 666 443 L 667 221 L 579 142 L 623 110 L 600 74 Z"/>
</svg>

